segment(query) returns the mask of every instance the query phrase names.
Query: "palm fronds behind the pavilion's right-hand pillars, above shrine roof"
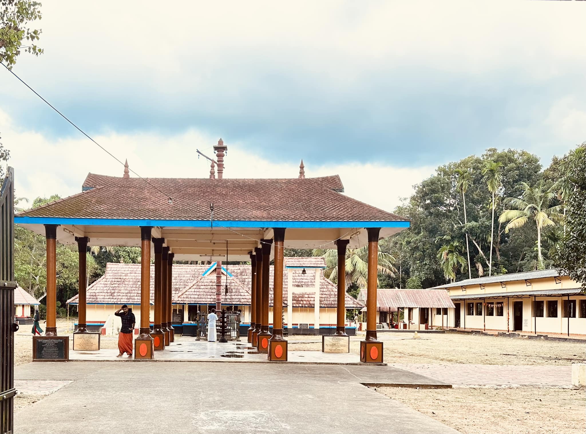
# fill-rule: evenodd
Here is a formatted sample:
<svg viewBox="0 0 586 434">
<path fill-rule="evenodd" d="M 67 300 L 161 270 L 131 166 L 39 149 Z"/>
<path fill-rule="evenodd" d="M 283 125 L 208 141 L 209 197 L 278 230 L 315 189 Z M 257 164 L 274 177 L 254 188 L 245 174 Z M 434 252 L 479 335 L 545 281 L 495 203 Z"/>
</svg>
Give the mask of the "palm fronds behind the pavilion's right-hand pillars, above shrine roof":
<svg viewBox="0 0 586 434">
<path fill-rule="evenodd" d="M 326 269 L 323 275 L 332 282 L 338 282 L 338 250 L 314 249 L 312 253 L 314 256 L 322 256 L 325 259 Z M 378 259 L 377 271 L 395 277 L 397 269 L 393 266 L 394 257 L 379 250 Z M 368 246 L 346 249 L 346 290 L 352 283 L 356 283 L 360 288 L 366 288 L 367 276 Z"/>
</svg>

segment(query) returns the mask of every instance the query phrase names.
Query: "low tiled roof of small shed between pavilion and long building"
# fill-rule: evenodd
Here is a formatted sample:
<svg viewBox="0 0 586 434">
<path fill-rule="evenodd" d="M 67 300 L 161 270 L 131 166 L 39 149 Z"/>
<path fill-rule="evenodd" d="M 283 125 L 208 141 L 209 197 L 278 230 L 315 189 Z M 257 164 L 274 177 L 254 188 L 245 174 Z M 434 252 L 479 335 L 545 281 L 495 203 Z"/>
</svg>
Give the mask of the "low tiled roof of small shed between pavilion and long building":
<svg viewBox="0 0 586 434">
<path fill-rule="evenodd" d="M 366 304 L 366 289 L 361 289 L 358 300 Z M 454 307 L 448 291 L 443 289 L 377 289 L 376 307 L 396 311 L 397 307 Z"/>
</svg>

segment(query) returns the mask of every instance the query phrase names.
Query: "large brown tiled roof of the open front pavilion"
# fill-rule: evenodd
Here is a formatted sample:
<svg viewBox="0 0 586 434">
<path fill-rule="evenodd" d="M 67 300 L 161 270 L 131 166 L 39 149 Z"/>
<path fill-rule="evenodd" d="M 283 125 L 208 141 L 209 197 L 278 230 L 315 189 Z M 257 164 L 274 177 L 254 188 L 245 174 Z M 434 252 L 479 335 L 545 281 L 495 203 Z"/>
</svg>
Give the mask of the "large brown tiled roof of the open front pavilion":
<svg viewBox="0 0 586 434">
<path fill-rule="evenodd" d="M 405 221 L 341 194 L 338 175 L 305 179 L 140 178 L 87 175 L 80 194 L 18 216 L 219 221 Z M 168 203 L 169 195 L 173 203 Z"/>
</svg>

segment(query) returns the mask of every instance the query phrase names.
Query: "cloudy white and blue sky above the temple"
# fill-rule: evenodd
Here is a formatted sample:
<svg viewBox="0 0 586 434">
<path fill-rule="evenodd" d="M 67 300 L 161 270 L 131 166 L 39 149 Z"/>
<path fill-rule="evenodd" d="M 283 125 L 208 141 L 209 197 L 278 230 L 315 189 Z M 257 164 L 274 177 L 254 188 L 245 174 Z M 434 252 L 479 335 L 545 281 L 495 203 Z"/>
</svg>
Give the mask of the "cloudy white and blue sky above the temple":
<svg viewBox="0 0 586 434">
<path fill-rule="evenodd" d="M 303 158 L 392 211 L 440 164 L 516 147 L 547 165 L 586 140 L 582 3 L 46 1 L 45 54 L 13 71 L 143 177 L 205 177 L 196 148 L 222 137 L 227 177 L 295 177 Z M 0 83 L 17 195 L 122 174 Z"/>
</svg>

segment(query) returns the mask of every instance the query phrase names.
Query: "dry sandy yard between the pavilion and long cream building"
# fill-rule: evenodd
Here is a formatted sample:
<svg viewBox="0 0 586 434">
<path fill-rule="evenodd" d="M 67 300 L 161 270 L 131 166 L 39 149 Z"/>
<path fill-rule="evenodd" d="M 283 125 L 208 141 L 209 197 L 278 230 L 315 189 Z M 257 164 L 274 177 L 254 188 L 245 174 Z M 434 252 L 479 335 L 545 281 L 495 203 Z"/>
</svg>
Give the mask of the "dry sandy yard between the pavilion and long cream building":
<svg viewBox="0 0 586 434">
<path fill-rule="evenodd" d="M 313 338 L 313 339 L 311 339 Z M 290 340 L 316 340 L 292 336 Z M 350 351 L 359 354 L 359 340 L 352 337 Z M 426 333 L 413 339 L 411 333 L 379 334 L 384 341 L 387 363 L 571 365 L 586 362 L 585 343 L 567 343 L 526 338 L 505 338 L 459 333 Z M 290 351 L 320 351 L 320 343 L 289 344 Z"/>
</svg>

